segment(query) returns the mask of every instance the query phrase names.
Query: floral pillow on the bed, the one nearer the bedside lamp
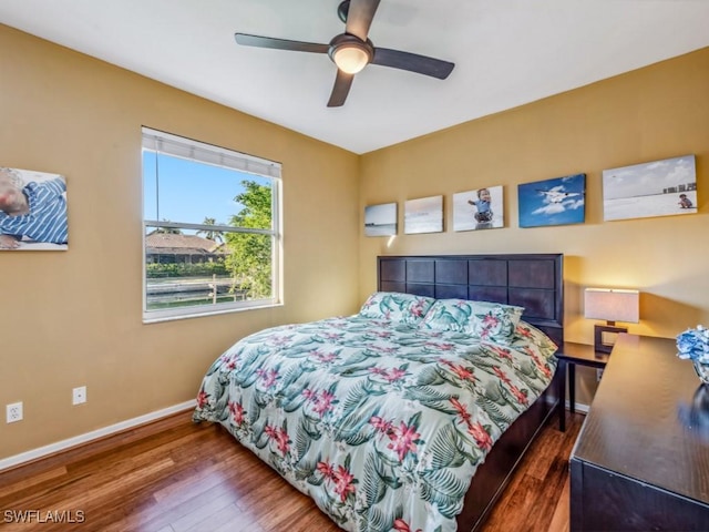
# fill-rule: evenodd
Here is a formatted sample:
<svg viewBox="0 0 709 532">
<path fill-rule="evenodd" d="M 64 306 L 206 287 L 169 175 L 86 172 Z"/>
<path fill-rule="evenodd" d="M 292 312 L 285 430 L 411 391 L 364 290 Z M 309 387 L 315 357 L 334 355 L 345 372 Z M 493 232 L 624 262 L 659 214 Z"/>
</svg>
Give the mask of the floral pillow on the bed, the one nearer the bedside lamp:
<svg viewBox="0 0 709 532">
<path fill-rule="evenodd" d="M 420 327 L 467 332 L 482 340 L 511 341 L 523 311 L 523 307 L 501 303 L 438 299 Z"/>
</svg>

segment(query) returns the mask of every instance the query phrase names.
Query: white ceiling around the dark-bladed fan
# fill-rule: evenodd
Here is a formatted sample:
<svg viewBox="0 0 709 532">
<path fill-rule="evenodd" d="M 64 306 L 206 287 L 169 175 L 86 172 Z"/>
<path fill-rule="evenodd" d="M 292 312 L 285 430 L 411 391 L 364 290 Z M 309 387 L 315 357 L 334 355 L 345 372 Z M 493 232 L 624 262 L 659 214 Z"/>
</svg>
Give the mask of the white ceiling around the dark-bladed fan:
<svg viewBox="0 0 709 532">
<path fill-rule="evenodd" d="M 709 45 L 709 0 L 381 0 L 374 47 L 455 63 L 369 65 L 327 108 L 339 0 L 0 0 L 0 22 L 361 154 Z"/>
</svg>

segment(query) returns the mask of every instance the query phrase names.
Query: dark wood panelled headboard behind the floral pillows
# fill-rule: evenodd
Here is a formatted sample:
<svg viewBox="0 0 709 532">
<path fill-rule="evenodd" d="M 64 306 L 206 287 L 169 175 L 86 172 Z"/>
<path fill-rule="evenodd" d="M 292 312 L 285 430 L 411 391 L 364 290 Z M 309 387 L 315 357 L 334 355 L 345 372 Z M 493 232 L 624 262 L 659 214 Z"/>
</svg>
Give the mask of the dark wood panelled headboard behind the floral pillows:
<svg viewBox="0 0 709 532">
<path fill-rule="evenodd" d="M 377 257 L 380 291 L 524 307 L 522 319 L 564 341 L 564 255 L 431 255 Z"/>
</svg>

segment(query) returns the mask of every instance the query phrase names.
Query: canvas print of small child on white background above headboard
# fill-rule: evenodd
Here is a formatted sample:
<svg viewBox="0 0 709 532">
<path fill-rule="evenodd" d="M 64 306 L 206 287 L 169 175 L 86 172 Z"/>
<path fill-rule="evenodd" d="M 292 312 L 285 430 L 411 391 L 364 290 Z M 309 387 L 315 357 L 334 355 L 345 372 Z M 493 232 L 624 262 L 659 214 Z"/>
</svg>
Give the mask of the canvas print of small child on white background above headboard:
<svg viewBox="0 0 709 532">
<path fill-rule="evenodd" d="M 502 186 L 453 194 L 453 231 L 497 227 L 504 227 Z"/>
</svg>

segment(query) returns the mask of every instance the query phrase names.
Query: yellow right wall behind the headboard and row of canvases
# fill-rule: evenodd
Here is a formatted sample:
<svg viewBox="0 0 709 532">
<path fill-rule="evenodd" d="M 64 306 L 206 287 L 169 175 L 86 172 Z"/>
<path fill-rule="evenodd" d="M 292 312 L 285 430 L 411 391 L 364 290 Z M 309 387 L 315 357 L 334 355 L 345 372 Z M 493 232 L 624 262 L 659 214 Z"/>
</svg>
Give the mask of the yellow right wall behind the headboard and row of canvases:
<svg viewBox="0 0 709 532">
<path fill-rule="evenodd" d="M 689 154 L 698 214 L 604 223 L 604 168 Z M 366 205 L 398 202 L 400 224 L 391 245 L 360 236 L 360 298 L 376 288 L 380 254 L 563 253 L 567 340 L 593 344 L 588 286 L 641 291 L 629 332 L 674 337 L 709 324 L 709 49 L 371 152 L 360 172 L 362 223 Z M 585 224 L 518 227 L 517 184 L 576 173 L 586 174 Z M 453 232 L 452 194 L 495 185 L 504 186 L 505 227 Z M 445 231 L 404 235 L 404 201 L 441 194 Z"/>
</svg>

